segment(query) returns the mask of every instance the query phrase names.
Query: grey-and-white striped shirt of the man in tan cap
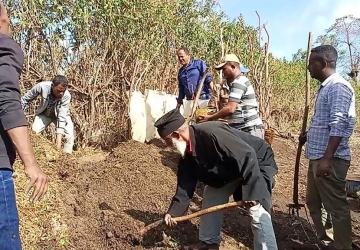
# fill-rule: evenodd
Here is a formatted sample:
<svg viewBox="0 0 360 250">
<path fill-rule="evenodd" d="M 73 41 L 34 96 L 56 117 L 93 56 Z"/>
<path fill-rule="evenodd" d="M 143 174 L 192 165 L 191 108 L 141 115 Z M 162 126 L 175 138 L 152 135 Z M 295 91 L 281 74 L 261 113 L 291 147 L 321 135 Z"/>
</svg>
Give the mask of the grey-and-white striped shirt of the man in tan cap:
<svg viewBox="0 0 360 250">
<path fill-rule="evenodd" d="M 229 102 L 238 103 L 235 112 L 228 117 L 230 126 L 236 124 L 237 128 L 243 129 L 263 125 L 254 87 L 246 76 L 239 75 L 230 84 Z"/>
</svg>

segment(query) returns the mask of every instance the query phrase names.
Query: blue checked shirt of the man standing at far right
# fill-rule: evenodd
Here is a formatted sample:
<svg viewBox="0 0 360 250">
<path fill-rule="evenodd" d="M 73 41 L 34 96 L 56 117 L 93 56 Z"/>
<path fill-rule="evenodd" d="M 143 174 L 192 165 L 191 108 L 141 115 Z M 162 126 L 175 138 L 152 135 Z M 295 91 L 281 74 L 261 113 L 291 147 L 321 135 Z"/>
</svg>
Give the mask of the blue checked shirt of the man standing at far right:
<svg viewBox="0 0 360 250">
<path fill-rule="evenodd" d="M 320 86 L 307 133 L 306 158 L 324 156 L 330 136 L 342 137 L 334 157 L 350 160 L 349 138 L 355 126 L 355 94 L 351 84 L 335 73 Z"/>
</svg>

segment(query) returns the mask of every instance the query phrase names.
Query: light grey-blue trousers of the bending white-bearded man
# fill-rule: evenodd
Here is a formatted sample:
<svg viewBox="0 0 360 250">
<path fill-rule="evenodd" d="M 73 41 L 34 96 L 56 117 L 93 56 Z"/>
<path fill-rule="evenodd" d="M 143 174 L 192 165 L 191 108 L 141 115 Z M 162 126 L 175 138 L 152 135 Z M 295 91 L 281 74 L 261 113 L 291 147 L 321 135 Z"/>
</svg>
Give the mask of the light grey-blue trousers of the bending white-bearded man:
<svg viewBox="0 0 360 250">
<path fill-rule="evenodd" d="M 239 181 L 233 181 L 221 188 L 206 186 L 204 189 L 202 209 L 229 202 Z M 270 214 L 258 204 L 249 209 L 251 230 L 254 235 L 254 250 L 277 250 L 275 233 Z M 199 239 L 207 244 L 220 244 L 220 233 L 223 222 L 223 211 L 201 216 Z M 241 222 L 239 222 L 241 223 Z"/>
</svg>

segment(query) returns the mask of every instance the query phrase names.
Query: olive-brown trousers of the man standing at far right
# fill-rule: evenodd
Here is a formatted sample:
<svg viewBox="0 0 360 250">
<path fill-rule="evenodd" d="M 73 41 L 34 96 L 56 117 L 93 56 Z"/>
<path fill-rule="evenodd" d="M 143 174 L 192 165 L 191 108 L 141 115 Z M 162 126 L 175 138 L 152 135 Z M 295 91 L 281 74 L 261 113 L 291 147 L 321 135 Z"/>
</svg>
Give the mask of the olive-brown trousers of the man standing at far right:
<svg viewBox="0 0 360 250">
<path fill-rule="evenodd" d="M 327 177 L 317 177 L 320 160 L 310 160 L 306 205 L 320 240 L 332 242 L 336 249 L 349 250 L 352 244 L 350 207 L 346 200 L 346 175 L 350 162 L 334 158 Z M 328 215 L 332 225 L 326 225 Z"/>
</svg>

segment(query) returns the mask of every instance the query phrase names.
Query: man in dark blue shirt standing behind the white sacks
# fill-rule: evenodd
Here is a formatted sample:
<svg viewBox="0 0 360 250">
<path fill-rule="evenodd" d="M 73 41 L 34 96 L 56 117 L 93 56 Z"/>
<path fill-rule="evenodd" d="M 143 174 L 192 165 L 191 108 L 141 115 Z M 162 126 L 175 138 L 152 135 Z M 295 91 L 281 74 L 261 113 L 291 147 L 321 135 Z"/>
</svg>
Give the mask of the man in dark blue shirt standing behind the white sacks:
<svg viewBox="0 0 360 250">
<path fill-rule="evenodd" d="M 186 100 L 195 99 L 201 78 L 206 71 L 206 64 L 202 60 L 191 59 L 190 51 L 186 47 L 181 47 L 177 51 L 177 57 L 182 65 L 178 72 L 179 96 L 176 108 L 179 109 L 183 104 L 184 98 Z M 211 90 L 215 90 L 214 83 L 212 76 L 208 73 L 199 99 L 210 100 Z"/>
</svg>

